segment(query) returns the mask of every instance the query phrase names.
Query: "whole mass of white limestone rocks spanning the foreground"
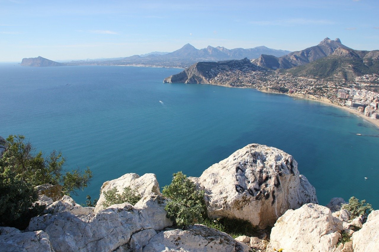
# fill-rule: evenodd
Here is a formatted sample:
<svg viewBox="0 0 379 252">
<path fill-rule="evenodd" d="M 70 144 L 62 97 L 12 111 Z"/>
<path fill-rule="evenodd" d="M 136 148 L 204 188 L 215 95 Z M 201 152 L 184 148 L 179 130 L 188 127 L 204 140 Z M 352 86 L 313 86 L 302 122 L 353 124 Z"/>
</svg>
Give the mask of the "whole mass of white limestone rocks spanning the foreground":
<svg viewBox="0 0 379 252">
<path fill-rule="evenodd" d="M 208 216 L 240 218 L 268 227 L 259 237 L 233 239 L 219 230 L 195 224 L 173 226 L 164 210 L 168 199 L 154 174 L 135 173 L 106 181 L 96 208 L 78 205 L 56 185 L 42 185 L 39 203 L 45 214 L 26 230 L 0 227 L 4 251 L 378 251 L 379 210 L 351 218 L 333 198 L 318 205 L 315 188 L 300 175 L 290 154 L 251 144 L 190 178 L 204 190 Z M 106 207 L 104 192 L 131 187 L 141 199 Z M 271 227 L 273 227 L 271 229 Z M 350 241 L 341 240 L 351 236 Z M 354 248 L 354 250 L 353 250 Z"/>
</svg>

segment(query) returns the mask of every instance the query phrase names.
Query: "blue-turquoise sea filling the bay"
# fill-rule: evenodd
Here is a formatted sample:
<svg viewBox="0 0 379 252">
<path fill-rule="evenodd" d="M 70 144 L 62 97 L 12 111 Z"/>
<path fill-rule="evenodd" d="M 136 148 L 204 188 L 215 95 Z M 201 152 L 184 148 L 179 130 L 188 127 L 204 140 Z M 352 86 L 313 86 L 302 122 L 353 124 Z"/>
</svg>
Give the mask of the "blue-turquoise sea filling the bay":
<svg viewBox="0 0 379 252">
<path fill-rule="evenodd" d="M 125 173 L 155 173 L 163 186 L 176 171 L 200 176 L 235 150 L 260 143 L 293 155 L 320 204 L 356 196 L 379 208 L 375 126 L 316 101 L 163 83 L 180 71 L 1 64 L 0 135 L 23 134 L 46 154 L 61 150 L 68 170 L 89 166 L 91 186 L 74 197 L 81 203 Z"/>
</svg>

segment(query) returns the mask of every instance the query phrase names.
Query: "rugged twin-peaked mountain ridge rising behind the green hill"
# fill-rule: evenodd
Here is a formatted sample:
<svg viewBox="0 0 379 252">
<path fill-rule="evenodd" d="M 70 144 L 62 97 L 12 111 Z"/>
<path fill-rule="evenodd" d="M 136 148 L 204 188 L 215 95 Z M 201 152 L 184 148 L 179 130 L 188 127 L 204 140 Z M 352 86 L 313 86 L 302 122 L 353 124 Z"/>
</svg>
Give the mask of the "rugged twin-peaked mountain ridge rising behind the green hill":
<svg viewBox="0 0 379 252">
<path fill-rule="evenodd" d="M 252 61 L 252 63 L 261 67 L 267 67 L 271 69 L 288 69 L 298 65 L 308 64 L 310 62 L 316 61 L 317 59 L 329 56 L 333 54 L 334 51 L 339 47 L 351 49 L 341 44 L 341 40 L 338 38 L 335 40 L 331 40 L 328 37 L 326 37 L 318 45 L 306 48 L 301 51 L 294 51 L 279 58 L 277 58 L 275 55 L 262 54 L 258 59 Z"/>
</svg>

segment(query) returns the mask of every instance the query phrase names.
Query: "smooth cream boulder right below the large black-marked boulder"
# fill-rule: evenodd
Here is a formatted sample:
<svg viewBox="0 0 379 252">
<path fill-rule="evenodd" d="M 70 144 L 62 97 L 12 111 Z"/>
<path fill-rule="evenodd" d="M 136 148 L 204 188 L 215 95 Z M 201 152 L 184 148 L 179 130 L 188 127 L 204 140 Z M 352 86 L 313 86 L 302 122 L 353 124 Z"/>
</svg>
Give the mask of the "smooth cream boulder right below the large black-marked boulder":
<svg viewBox="0 0 379 252">
<path fill-rule="evenodd" d="M 267 251 L 282 248 L 284 251 L 338 251 L 342 221 L 332 216 L 329 208 L 305 204 L 288 210 L 271 230 Z"/>
</svg>

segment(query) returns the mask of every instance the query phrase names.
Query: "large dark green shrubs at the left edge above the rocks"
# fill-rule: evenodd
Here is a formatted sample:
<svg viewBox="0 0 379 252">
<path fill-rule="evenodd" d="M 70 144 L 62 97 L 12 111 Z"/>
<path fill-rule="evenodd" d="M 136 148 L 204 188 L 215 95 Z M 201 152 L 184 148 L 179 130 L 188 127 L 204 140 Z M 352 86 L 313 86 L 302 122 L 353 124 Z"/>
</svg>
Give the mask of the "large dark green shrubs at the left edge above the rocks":
<svg viewBox="0 0 379 252">
<path fill-rule="evenodd" d="M 37 185 L 62 185 L 63 193 L 77 194 L 92 178 L 87 168 L 78 170 L 63 169 L 65 159 L 61 152 L 52 151 L 44 157 L 37 154 L 23 135 L 10 135 L 6 138 L 6 150 L 0 159 L 0 226 L 25 229 L 31 217 L 42 213 L 43 207 L 33 205 L 38 196 Z"/>
</svg>

